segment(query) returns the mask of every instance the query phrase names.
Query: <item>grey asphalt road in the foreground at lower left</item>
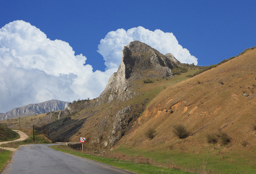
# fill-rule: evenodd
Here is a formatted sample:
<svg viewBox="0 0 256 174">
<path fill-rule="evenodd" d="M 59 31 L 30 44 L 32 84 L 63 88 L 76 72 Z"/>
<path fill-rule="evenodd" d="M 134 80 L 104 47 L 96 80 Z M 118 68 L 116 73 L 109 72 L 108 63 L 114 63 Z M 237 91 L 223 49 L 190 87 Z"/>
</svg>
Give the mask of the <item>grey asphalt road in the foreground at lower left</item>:
<svg viewBox="0 0 256 174">
<path fill-rule="evenodd" d="M 50 144 L 20 146 L 2 173 L 132 173 L 86 158 L 62 153 L 48 146 Z"/>
</svg>

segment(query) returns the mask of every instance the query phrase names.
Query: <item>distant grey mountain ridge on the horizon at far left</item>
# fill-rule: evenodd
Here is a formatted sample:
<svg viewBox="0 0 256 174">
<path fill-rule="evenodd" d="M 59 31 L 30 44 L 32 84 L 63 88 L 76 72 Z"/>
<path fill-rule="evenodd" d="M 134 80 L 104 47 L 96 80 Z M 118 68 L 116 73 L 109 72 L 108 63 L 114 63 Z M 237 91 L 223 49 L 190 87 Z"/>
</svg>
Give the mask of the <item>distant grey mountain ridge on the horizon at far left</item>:
<svg viewBox="0 0 256 174">
<path fill-rule="evenodd" d="M 5 114 L 0 114 L 0 119 L 10 119 L 16 117 L 27 117 L 30 115 L 44 114 L 52 111 L 64 110 L 69 102 L 59 100 L 48 100 L 42 103 L 28 104 L 19 108 L 14 108 Z"/>
</svg>

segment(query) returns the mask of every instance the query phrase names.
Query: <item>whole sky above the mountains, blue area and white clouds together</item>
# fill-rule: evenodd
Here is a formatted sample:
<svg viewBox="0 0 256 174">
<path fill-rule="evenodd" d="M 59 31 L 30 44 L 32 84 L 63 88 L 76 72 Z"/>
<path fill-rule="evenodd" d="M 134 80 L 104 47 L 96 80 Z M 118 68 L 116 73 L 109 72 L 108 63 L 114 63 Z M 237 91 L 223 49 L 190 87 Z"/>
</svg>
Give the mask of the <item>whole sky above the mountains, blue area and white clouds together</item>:
<svg viewBox="0 0 256 174">
<path fill-rule="evenodd" d="M 256 46 L 256 1 L 2 1 L 0 113 L 93 99 L 139 40 L 209 66 Z"/>
</svg>

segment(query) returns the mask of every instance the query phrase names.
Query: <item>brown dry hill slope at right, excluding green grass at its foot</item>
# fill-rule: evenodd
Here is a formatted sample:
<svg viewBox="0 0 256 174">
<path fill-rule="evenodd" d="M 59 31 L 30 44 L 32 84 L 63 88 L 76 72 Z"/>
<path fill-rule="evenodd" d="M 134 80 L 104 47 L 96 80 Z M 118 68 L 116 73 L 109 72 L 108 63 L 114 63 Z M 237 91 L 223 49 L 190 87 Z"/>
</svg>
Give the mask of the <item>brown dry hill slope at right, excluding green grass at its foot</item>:
<svg viewBox="0 0 256 174">
<path fill-rule="evenodd" d="M 169 86 L 148 104 L 136 128 L 120 144 L 172 146 L 185 151 L 200 151 L 211 143 L 229 144 L 229 150 L 255 148 L 255 57 L 256 49 L 248 49 L 218 67 Z M 173 132 L 178 125 L 190 132 L 187 139 L 179 139 Z M 156 131 L 153 140 L 145 136 L 149 128 Z M 229 137 L 227 142 L 222 134 Z"/>
</svg>

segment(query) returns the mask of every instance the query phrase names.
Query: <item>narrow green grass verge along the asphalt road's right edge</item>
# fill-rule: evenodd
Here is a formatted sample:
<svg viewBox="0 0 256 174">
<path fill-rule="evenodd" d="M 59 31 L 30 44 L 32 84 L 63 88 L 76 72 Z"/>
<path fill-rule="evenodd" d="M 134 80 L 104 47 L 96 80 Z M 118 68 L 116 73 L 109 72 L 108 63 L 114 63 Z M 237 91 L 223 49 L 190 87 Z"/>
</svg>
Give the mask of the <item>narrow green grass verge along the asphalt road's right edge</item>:
<svg viewBox="0 0 256 174">
<path fill-rule="evenodd" d="M 120 169 L 126 169 L 128 171 L 136 172 L 136 173 L 189 173 L 180 171 L 178 169 L 170 169 L 159 166 L 154 166 L 151 164 L 135 164 L 133 161 L 123 161 L 113 158 L 104 158 L 97 155 L 85 154 L 80 151 L 72 150 L 71 148 L 64 146 L 51 146 L 51 148 L 62 151 L 64 153 L 73 154 L 79 157 L 87 158 L 89 160 L 101 162 L 104 164 L 108 164 L 111 166 L 115 166 Z"/>
</svg>

